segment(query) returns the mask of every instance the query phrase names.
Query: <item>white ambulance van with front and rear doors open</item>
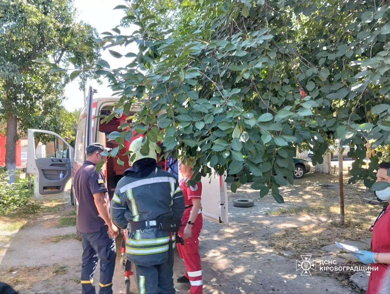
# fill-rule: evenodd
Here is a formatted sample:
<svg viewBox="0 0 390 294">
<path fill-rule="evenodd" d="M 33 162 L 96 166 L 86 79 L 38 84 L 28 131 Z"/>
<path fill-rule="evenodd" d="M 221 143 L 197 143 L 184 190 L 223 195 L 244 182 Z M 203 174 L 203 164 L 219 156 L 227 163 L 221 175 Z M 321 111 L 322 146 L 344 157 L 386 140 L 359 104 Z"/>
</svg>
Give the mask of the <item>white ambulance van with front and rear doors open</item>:
<svg viewBox="0 0 390 294">
<path fill-rule="evenodd" d="M 78 121 L 74 150 L 58 134 L 46 130 L 28 129 L 27 173 L 34 175 L 34 196 L 36 198 L 62 197 L 67 181 L 85 160 L 85 148 L 93 142 L 110 148 L 118 146 L 115 140 L 108 140 L 107 135 L 119 131 L 118 128 L 123 123 L 123 119 L 139 110 L 140 105 L 133 105 L 131 113 L 119 114 L 110 122 L 101 124 L 98 116 L 108 114 L 110 110 L 107 109 L 112 109 L 112 105 L 119 101 L 119 98 L 93 98 L 93 94 L 94 90 L 90 87 L 87 103 Z M 42 145 L 46 148 L 39 148 Z M 128 156 L 123 155 L 125 151 L 122 148 L 117 155 L 124 162 L 124 166 L 117 164 L 116 158 L 109 157 L 102 167 L 106 175 L 110 199 L 123 172 L 129 168 Z M 215 174 L 211 178 L 202 178 L 202 208 L 206 219 L 228 225 L 225 176 Z M 72 185 L 71 203 L 73 205 L 75 205 L 74 199 Z"/>
</svg>

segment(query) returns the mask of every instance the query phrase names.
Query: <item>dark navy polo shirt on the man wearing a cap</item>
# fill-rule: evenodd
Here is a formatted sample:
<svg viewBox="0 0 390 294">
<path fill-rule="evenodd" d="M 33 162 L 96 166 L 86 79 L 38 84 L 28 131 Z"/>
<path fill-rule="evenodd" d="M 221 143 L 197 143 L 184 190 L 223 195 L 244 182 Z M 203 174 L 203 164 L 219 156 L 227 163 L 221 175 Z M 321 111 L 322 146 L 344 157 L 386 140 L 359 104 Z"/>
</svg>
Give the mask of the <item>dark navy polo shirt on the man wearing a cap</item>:
<svg viewBox="0 0 390 294">
<path fill-rule="evenodd" d="M 110 210 L 110 199 L 103 172 L 101 170 L 96 172 L 96 165 L 85 160 L 74 175 L 73 188 L 78 201 L 77 229 L 82 233 L 99 232 L 106 223 L 97 212 L 94 194 L 105 193 L 105 200 Z"/>
</svg>

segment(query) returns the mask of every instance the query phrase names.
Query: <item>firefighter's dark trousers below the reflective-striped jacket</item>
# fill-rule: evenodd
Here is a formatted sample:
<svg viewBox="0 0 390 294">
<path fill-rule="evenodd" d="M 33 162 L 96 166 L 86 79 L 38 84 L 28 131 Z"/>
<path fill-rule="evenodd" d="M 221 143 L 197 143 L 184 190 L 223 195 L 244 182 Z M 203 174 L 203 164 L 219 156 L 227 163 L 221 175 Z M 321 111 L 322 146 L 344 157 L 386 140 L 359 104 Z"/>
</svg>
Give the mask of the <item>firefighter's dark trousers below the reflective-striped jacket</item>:
<svg viewBox="0 0 390 294">
<path fill-rule="evenodd" d="M 147 256 L 147 255 L 146 255 Z M 135 283 L 140 294 L 174 294 L 173 264 L 144 266 L 133 263 Z"/>
</svg>

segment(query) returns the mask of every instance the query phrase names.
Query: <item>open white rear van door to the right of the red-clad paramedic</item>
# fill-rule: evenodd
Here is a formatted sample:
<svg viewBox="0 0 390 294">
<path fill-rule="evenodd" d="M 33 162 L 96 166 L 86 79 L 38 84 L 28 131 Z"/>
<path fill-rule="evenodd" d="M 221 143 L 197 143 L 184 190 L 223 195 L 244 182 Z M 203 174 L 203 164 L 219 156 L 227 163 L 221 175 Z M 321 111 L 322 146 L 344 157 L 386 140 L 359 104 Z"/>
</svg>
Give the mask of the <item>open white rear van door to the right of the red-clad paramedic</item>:
<svg viewBox="0 0 390 294">
<path fill-rule="evenodd" d="M 202 213 L 205 219 L 229 225 L 226 173 L 218 175 L 213 169 L 210 177 L 202 177 Z M 179 180 L 181 180 L 179 172 Z"/>
</svg>

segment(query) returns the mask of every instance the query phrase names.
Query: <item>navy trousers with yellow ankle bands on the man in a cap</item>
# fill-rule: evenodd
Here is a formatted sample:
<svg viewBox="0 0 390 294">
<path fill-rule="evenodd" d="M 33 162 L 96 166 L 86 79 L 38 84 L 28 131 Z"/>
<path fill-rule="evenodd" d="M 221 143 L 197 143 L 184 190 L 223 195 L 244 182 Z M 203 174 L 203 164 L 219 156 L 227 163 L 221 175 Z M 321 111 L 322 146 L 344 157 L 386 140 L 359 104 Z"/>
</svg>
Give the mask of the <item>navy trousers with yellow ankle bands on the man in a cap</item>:
<svg viewBox="0 0 390 294">
<path fill-rule="evenodd" d="M 117 256 L 115 239 L 108 236 L 107 226 L 102 226 L 99 232 L 81 233 L 83 257 L 81 265 L 82 292 L 95 294 L 92 285 L 97 261 L 100 259 L 99 293 L 112 294 L 112 276 Z"/>
</svg>

